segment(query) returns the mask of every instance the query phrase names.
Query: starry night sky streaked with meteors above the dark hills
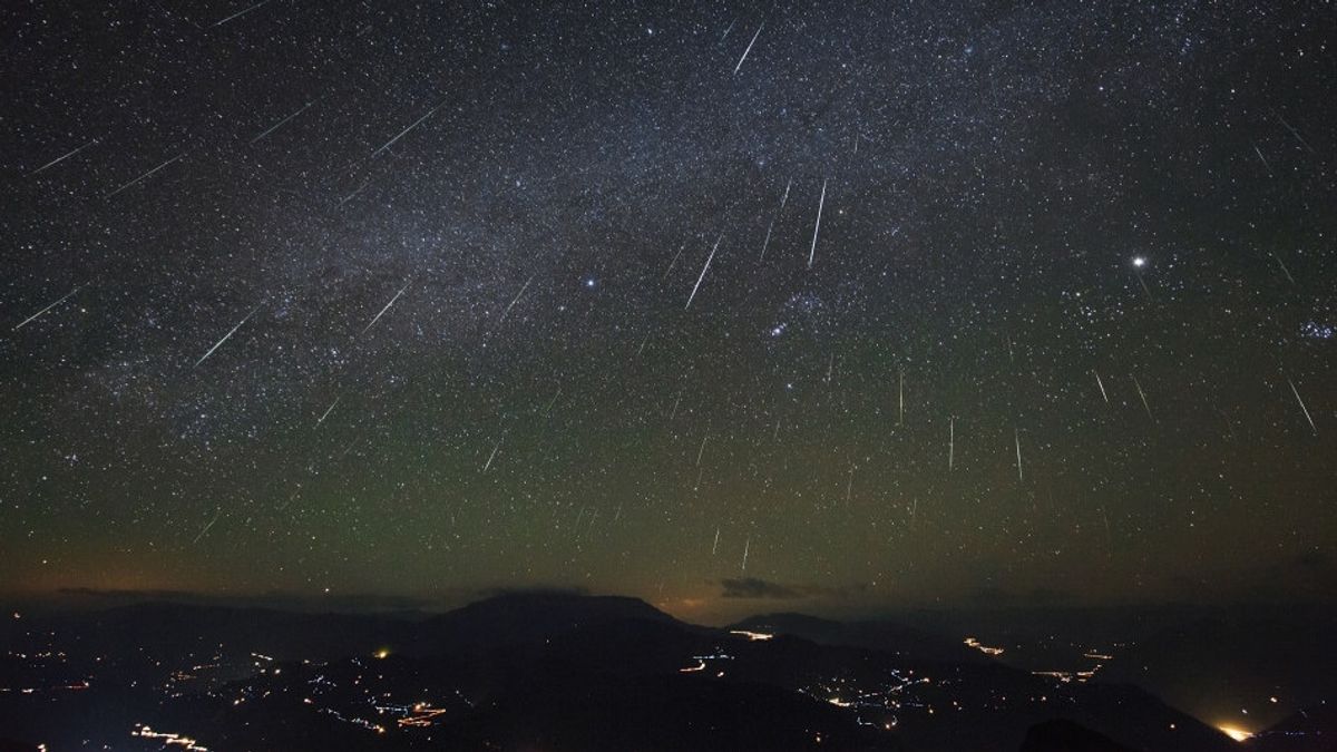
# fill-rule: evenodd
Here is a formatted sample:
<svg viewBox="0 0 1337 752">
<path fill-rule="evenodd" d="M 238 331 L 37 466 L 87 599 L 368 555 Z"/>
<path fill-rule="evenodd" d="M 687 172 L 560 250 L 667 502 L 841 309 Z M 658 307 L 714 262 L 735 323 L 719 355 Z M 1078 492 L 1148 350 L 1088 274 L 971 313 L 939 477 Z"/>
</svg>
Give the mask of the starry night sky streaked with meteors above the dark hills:
<svg viewBox="0 0 1337 752">
<path fill-rule="evenodd" d="M 24 3 L 0 591 L 1337 593 L 1328 3 Z"/>
</svg>

